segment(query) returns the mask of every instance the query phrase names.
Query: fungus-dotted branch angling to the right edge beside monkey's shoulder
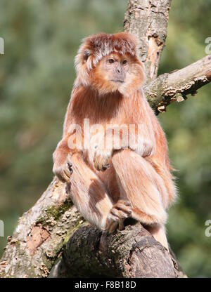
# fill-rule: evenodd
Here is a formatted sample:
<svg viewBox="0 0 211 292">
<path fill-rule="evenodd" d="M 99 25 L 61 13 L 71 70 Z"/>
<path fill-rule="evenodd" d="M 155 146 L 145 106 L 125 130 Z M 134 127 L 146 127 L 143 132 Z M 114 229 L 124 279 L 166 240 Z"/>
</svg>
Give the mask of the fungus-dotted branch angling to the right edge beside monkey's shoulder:
<svg viewBox="0 0 211 292">
<path fill-rule="evenodd" d="M 171 102 L 186 100 L 186 95 L 195 95 L 197 90 L 211 81 L 211 55 L 197 62 L 160 75 L 144 88 L 146 97 L 155 113 L 165 112 Z"/>
</svg>

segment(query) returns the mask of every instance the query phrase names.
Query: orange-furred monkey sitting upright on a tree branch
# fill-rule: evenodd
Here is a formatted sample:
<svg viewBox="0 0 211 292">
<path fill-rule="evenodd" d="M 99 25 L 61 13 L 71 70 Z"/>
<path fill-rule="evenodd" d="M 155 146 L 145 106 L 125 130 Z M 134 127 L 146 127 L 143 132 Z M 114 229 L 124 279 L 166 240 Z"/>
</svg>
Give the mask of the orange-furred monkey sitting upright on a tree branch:
<svg viewBox="0 0 211 292">
<path fill-rule="evenodd" d="M 53 173 L 89 223 L 112 233 L 133 218 L 168 250 L 167 208 L 177 190 L 165 133 L 143 93 L 138 48 L 128 32 L 82 41 Z"/>
</svg>

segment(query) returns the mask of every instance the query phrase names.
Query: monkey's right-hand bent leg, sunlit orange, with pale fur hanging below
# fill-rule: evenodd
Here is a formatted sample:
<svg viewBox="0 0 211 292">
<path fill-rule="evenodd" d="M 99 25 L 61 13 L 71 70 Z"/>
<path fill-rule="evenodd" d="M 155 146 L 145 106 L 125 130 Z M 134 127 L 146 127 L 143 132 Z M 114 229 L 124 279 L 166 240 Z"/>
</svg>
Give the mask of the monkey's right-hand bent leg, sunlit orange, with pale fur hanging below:
<svg viewBox="0 0 211 292">
<path fill-rule="evenodd" d="M 113 155 L 122 199 L 132 204 L 131 217 L 144 225 L 167 248 L 165 222 L 167 213 L 164 201 L 167 197 L 165 184 L 151 164 L 131 150 L 122 150 Z"/>
</svg>

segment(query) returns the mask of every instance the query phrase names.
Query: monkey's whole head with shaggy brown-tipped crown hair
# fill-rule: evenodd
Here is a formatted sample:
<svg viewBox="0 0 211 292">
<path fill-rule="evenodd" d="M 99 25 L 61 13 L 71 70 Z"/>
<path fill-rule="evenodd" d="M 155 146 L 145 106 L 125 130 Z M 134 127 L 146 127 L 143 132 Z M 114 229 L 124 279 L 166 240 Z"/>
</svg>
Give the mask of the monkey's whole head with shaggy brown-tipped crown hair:
<svg viewBox="0 0 211 292">
<path fill-rule="evenodd" d="M 102 95 L 130 95 L 145 78 L 137 46 L 136 37 L 127 32 L 87 37 L 75 58 L 76 86 L 91 86 Z"/>
</svg>

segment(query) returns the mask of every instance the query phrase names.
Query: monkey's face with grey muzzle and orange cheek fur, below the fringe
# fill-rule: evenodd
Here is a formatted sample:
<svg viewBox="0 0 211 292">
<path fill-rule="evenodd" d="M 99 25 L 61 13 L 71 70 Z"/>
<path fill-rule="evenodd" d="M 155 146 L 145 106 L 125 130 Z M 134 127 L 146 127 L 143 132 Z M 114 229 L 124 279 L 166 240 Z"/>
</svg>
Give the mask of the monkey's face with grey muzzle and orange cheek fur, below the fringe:
<svg viewBox="0 0 211 292">
<path fill-rule="evenodd" d="M 91 71 L 91 86 L 101 94 L 119 91 L 128 95 L 142 81 L 143 67 L 129 54 L 111 53 Z"/>
</svg>

